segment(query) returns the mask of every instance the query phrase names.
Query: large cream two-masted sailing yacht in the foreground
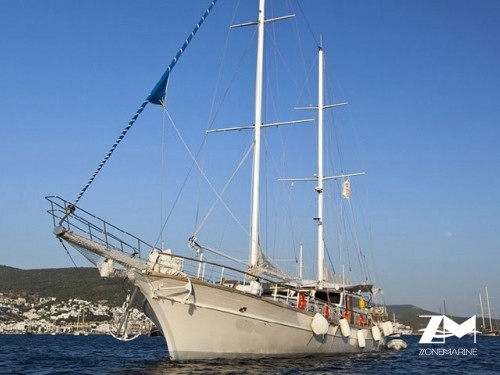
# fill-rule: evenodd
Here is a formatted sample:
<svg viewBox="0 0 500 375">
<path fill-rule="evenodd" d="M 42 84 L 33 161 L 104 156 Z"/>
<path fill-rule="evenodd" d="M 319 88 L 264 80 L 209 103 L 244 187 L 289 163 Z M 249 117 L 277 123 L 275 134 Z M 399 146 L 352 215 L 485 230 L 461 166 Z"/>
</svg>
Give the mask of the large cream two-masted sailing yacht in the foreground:
<svg viewBox="0 0 500 375">
<path fill-rule="evenodd" d="M 198 31 L 214 3 L 180 53 Z M 367 282 L 352 284 L 343 277 L 329 277 L 324 272 L 323 183 L 360 173 L 327 177 L 323 174 L 323 110 L 335 105 L 323 103 L 321 48 L 318 105 L 314 107 L 318 114 L 318 171 L 314 178 L 294 179 L 316 182 L 316 280 L 302 280 L 281 272 L 268 261 L 260 246 L 261 131 L 277 125 L 262 123 L 264 32 L 267 23 L 286 18 L 266 19 L 265 0 L 260 0 L 258 21 L 237 25 L 258 28 L 255 121 L 251 127 L 253 175 L 248 264 L 228 266 L 226 263 L 207 261 L 205 252 L 215 250 L 200 245 L 195 237 L 189 239 L 189 244 L 197 256 L 188 257 L 155 248 L 76 205 L 124 133 L 75 202 L 57 196 L 47 197 L 51 203 L 49 212 L 53 216 L 54 234 L 61 243 L 68 243 L 84 254 L 99 268 L 101 276 L 125 275 L 131 283 L 123 324 L 114 332 L 115 337 L 127 337 L 128 308 L 136 304 L 163 333 L 172 360 L 331 355 L 376 352 L 385 347 L 385 337 L 392 333 L 390 321 L 382 324 L 382 319 L 386 317 L 381 312 L 385 309 L 373 303 L 373 285 Z M 173 64 L 179 56 L 174 58 Z M 158 93 L 165 89 L 164 84 L 173 64 L 128 128 L 147 102 L 162 101 L 164 94 Z M 227 130 L 234 129 L 220 131 Z M 345 187 L 348 188 L 347 185 Z M 141 258 L 145 252 L 149 253 L 147 259 Z"/>
</svg>

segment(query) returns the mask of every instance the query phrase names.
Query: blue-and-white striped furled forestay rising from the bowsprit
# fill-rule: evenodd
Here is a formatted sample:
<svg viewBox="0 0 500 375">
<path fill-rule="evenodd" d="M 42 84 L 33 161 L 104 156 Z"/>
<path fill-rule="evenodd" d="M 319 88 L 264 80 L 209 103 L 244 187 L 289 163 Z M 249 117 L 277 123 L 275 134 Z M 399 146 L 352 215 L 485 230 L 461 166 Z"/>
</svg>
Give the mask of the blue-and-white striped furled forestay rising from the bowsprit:
<svg viewBox="0 0 500 375">
<path fill-rule="evenodd" d="M 193 31 L 189 34 L 189 36 L 187 37 L 187 39 L 182 44 L 182 46 L 179 49 L 179 51 L 176 53 L 176 55 L 174 56 L 174 58 L 170 62 L 167 70 L 165 71 L 165 73 L 163 73 L 162 77 L 160 78 L 160 80 L 158 81 L 158 83 L 155 85 L 155 87 L 153 88 L 153 90 L 151 91 L 151 93 L 148 95 L 148 97 L 146 98 L 146 100 L 144 100 L 144 102 L 141 104 L 141 106 L 139 107 L 139 109 L 137 110 L 137 112 L 134 114 L 134 116 L 132 117 L 132 119 L 129 121 L 128 125 L 121 132 L 120 136 L 117 138 L 117 140 L 115 141 L 115 143 L 113 144 L 113 146 L 111 146 L 111 148 L 108 151 L 108 153 L 106 154 L 106 156 L 102 159 L 101 163 L 99 164 L 99 166 L 95 170 L 95 172 L 92 175 L 92 177 L 90 177 L 90 179 L 88 180 L 87 184 L 80 191 L 80 194 L 76 198 L 76 200 L 75 200 L 74 204 L 72 205 L 71 209 L 69 210 L 68 214 L 71 213 L 74 210 L 74 206 L 76 206 L 76 204 L 80 201 L 80 199 L 82 198 L 82 196 L 85 193 L 85 191 L 87 191 L 87 189 L 89 188 L 89 186 L 92 184 L 92 182 L 96 178 L 97 174 L 101 171 L 101 169 L 104 166 L 104 164 L 106 164 L 106 162 L 108 161 L 108 159 L 111 157 L 111 155 L 115 151 L 116 147 L 123 140 L 123 138 L 125 137 L 125 135 L 127 134 L 127 132 L 130 130 L 130 128 L 132 127 L 132 125 L 134 125 L 135 121 L 137 120 L 137 118 L 139 117 L 139 115 L 142 113 L 142 111 L 144 110 L 144 108 L 146 107 L 146 105 L 148 103 L 160 104 L 162 106 L 165 105 L 165 90 L 166 90 L 167 81 L 168 81 L 168 77 L 170 75 L 170 72 L 174 68 L 175 64 L 177 64 L 177 62 L 179 61 L 180 56 L 186 50 L 187 46 L 189 45 L 189 43 L 193 39 L 193 37 L 196 34 L 196 32 L 200 29 L 202 23 L 205 21 L 206 17 L 210 13 L 210 11 L 212 10 L 212 8 L 214 7 L 214 5 L 215 5 L 216 2 L 217 2 L 217 0 L 212 0 L 212 2 L 210 3 L 210 6 L 207 8 L 207 10 L 203 14 L 203 16 L 200 18 L 200 20 L 196 24 L 196 26 L 193 29 Z"/>
</svg>

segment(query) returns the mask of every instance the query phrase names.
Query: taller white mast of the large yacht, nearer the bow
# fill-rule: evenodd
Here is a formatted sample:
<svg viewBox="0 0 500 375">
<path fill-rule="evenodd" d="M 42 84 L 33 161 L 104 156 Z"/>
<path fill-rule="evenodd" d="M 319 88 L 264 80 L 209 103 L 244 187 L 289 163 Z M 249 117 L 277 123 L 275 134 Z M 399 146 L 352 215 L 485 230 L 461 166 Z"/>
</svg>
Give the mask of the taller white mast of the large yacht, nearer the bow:
<svg viewBox="0 0 500 375">
<path fill-rule="evenodd" d="M 265 0 L 259 1 L 257 68 L 255 74 L 255 121 L 254 121 L 254 154 L 252 176 L 252 217 L 250 231 L 250 266 L 257 266 L 259 257 L 259 185 L 260 185 L 260 136 L 262 125 L 262 72 L 264 66 L 264 21 Z"/>
</svg>

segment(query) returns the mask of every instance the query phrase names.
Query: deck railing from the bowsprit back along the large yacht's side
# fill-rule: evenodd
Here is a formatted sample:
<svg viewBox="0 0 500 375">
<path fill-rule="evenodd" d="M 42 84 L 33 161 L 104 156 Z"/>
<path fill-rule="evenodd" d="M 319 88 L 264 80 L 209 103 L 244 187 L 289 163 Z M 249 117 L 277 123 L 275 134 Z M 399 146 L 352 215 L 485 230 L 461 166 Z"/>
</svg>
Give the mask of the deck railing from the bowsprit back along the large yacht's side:
<svg viewBox="0 0 500 375">
<path fill-rule="evenodd" d="M 260 285 L 264 287 L 264 290 L 259 291 L 259 293 L 264 293 L 276 302 L 291 307 L 301 308 L 298 301 L 300 286 L 286 286 L 286 284 L 281 281 L 253 275 L 221 262 L 215 263 L 200 258 L 192 258 L 161 251 L 129 232 L 79 207 L 74 207 L 74 210 L 68 212 L 68 207 L 71 206 L 71 203 L 63 198 L 48 196 L 46 199 L 50 202 L 50 209 L 47 212 L 53 218 L 54 227 L 62 225 L 66 229 L 78 232 L 96 243 L 129 254 L 130 256 L 142 258 L 141 255 L 143 254 L 150 254 L 152 251 L 157 251 L 160 255 L 156 260 L 158 266 L 156 270 L 158 272 L 161 272 L 161 267 L 170 270 L 175 269 L 191 279 L 243 291 L 250 290 L 251 281 L 258 280 Z M 151 265 L 152 270 L 155 270 L 155 265 L 156 264 Z M 279 288 L 281 288 L 280 293 L 277 292 Z M 304 292 L 307 293 L 307 291 Z M 325 306 L 328 306 L 327 311 L 329 311 L 326 314 Z M 339 307 L 336 304 L 328 304 L 325 301 L 310 296 L 307 297 L 307 303 L 303 309 L 309 312 L 325 314 L 329 320 L 333 321 L 338 321 L 341 317 L 346 315 L 345 308 Z M 359 319 L 360 315 L 364 316 L 364 322 L 368 320 L 366 319 L 366 312 L 363 312 L 361 309 L 352 309 L 350 313 L 352 314 L 351 320 L 353 323 Z"/>
</svg>

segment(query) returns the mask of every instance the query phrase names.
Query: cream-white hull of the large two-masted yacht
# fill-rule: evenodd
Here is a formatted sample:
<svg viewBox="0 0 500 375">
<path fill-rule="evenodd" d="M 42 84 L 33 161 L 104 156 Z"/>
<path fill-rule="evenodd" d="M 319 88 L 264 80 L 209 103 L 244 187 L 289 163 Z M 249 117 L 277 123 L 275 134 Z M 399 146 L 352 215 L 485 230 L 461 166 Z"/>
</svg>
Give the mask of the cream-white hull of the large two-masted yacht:
<svg viewBox="0 0 500 375">
<path fill-rule="evenodd" d="M 161 327 L 171 359 L 255 358 L 309 356 L 315 354 L 373 352 L 384 340 L 373 340 L 363 328 L 365 347 L 360 348 L 358 329 L 343 337 L 330 324 L 325 335 L 311 328 L 314 313 L 300 311 L 235 289 L 170 276 L 136 273 L 135 285 L 146 298 L 145 312 Z M 161 288 L 162 291 L 155 289 Z M 166 289 L 175 288 L 175 289 Z"/>
</svg>

